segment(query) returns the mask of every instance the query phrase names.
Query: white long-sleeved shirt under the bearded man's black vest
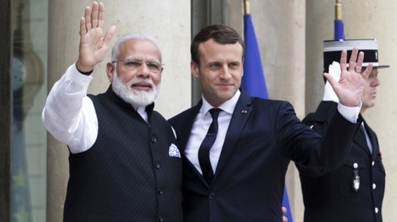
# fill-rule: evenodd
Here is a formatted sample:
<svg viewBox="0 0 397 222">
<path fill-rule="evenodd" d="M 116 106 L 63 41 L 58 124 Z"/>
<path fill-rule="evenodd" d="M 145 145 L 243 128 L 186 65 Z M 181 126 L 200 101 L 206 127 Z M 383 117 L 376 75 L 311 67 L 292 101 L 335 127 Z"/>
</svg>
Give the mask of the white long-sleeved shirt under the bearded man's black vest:
<svg viewBox="0 0 397 222">
<path fill-rule="evenodd" d="M 42 112 L 45 128 L 73 154 L 87 151 L 98 136 L 98 118 L 87 97 L 91 80 L 91 75 L 83 75 L 75 64 L 70 65 L 51 89 Z M 135 110 L 147 123 L 145 107 Z"/>
</svg>

